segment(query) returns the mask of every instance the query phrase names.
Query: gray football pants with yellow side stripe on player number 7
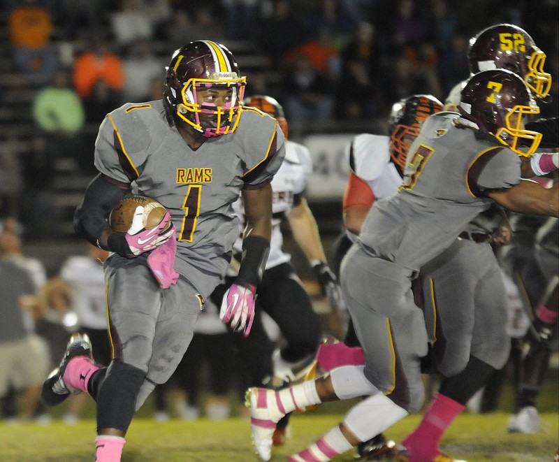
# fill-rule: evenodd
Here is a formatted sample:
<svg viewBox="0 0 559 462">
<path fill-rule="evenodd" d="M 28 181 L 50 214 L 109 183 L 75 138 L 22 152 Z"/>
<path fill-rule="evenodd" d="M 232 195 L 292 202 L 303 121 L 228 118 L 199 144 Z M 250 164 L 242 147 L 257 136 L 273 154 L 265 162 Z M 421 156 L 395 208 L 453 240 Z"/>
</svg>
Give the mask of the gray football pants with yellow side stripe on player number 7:
<svg viewBox="0 0 559 462">
<path fill-rule="evenodd" d="M 427 354 L 412 271 L 371 257 L 359 245 L 342 261 L 341 286 L 365 356 L 365 377 L 410 414 L 425 399 L 420 360 Z"/>
</svg>

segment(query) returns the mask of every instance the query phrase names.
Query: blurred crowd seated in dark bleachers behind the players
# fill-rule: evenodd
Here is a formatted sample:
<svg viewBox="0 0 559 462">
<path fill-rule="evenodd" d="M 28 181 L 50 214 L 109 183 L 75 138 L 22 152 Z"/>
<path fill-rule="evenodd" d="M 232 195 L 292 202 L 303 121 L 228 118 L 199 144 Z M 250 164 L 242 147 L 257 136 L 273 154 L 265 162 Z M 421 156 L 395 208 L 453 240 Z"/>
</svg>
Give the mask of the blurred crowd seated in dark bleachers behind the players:
<svg viewBox="0 0 559 462">
<path fill-rule="evenodd" d="M 558 75 L 558 1 L 1 0 L 0 217 L 56 237 L 94 173 L 96 131 L 124 102 L 159 99 L 173 50 L 224 43 L 247 94 L 280 101 L 296 139 L 384 132 L 394 101 L 444 100 L 468 75 L 467 41 L 525 28 Z M 557 96 L 557 79 L 552 94 Z M 544 115 L 557 110 L 557 97 Z"/>
</svg>

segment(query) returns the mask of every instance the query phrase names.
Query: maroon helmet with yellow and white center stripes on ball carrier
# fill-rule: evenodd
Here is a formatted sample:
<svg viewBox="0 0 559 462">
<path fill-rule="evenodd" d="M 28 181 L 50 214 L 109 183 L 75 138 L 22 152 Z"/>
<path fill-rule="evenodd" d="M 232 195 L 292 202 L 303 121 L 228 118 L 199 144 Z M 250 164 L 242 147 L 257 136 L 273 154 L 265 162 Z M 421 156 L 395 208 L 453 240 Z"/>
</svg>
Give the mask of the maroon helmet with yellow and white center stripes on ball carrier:
<svg viewBox="0 0 559 462">
<path fill-rule="evenodd" d="M 237 62 L 224 45 L 191 42 L 175 51 L 166 69 L 164 100 L 181 120 L 208 138 L 235 131 L 246 78 L 240 77 Z M 231 89 L 231 101 L 224 106 L 198 102 L 196 90 L 210 88 Z M 212 116 L 212 122 L 201 121 L 201 114 Z"/>
</svg>

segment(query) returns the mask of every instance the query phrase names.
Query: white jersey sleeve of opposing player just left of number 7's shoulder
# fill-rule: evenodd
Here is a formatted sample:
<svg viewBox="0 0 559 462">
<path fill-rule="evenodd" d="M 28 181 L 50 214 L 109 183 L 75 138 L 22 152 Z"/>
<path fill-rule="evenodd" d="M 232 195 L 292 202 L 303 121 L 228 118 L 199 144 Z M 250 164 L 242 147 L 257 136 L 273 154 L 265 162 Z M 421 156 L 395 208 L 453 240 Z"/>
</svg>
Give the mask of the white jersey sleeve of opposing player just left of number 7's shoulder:
<svg viewBox="0 0 559 462">
<path fill-rule="evenodd" d="M 390 161 L 389 137 L 362 133 L 351 140 L 349 168 L 359 178 L 372 181 L 382 175 Z"/>
</svg>

